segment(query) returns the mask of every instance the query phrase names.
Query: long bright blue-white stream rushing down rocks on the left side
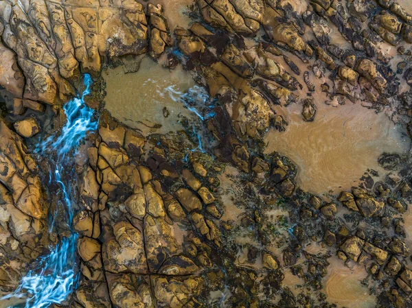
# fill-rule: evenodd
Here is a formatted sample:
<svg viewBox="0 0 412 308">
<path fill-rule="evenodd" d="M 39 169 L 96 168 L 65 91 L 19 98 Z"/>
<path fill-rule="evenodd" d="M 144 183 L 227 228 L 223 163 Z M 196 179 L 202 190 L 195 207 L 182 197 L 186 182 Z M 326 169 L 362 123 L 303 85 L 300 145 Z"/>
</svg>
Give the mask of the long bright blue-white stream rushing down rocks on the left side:
<svg viewBox="0 0 412 308">
<path fill-rule="evenodd" d="M 56 206 L 56 211 L 50 215 L 50 230 L 54 228 L 55 218 L 65 217 L 70 236 L 62 239 L 61 243 L 51 248 L 46 257 L 37 262 L 36 268 L 30 270 L 13 294 L 3 297 L 26 298 L 25 308 L 45 308 L 54 303 L 61 303 L 76 287 L 76 242 L 78 235 L 73 231 L 73 199 L 71 182 L 75 180 L 73 159 L 76 156 L 80 141 L 87 132 L 98 128 L 98 121 L 93 119 L 94 110 L 84 103 L 84 97 L 90 93 L 92 80 L 90 75 L 84 75 L 86 86 L 82 95 L 71 99 L 63 109 L 67 122 L 60 134 L 54 134 L 45 141 L 38 143 L 36 152 L 39 159 L 47 159 L 54 169 L 50 170 L 49 185 L 57 185 L 62 200 Z"/>
</svg>

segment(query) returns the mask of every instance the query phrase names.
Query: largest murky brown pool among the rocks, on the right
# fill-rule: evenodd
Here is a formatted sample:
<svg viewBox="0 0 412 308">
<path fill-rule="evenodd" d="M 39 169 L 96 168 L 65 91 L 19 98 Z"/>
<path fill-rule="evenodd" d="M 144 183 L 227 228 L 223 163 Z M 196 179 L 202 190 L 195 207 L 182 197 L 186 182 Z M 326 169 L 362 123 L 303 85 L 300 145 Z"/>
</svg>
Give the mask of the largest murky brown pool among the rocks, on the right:
<svg viewBox="0 0 412 308">
<path fill-rule="evenodd" d="M 382 152 L 409 150 L 409 139 L 383 112 L 376 114 L 350 102 L 339 107 L 316 104 L 313 122 L 305 122 L 302 107 L 294 104 L 287 108 L 286 131 L 272 130 L 265 138 L 266 152 L 277 151 L 297 165 L 302 189 L 313 193 L 350 189 L 368 168 L 384 173 L 377 162 Z"/>
</svg>

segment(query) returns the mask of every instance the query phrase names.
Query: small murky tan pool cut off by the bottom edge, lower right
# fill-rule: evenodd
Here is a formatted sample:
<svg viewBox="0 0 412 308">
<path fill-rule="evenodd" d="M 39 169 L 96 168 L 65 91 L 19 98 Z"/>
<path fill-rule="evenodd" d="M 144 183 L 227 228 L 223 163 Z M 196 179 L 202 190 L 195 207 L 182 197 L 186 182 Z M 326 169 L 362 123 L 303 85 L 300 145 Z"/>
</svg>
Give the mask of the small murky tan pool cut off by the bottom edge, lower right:
<svg viewBox="0 0 412 308">
<path fill-rule="evenodd" d="M 355 264 L 354 268 L 350 269 L 336 257 L 331 257 L 328 261 L 330 266 L 324 279 L 328 302 L 346 308 L 375 307 L 376 297 L 369 295 L 367 287 L 361 285 L 361 280 L 367 276 L 362 265 Z"/>
</svg>

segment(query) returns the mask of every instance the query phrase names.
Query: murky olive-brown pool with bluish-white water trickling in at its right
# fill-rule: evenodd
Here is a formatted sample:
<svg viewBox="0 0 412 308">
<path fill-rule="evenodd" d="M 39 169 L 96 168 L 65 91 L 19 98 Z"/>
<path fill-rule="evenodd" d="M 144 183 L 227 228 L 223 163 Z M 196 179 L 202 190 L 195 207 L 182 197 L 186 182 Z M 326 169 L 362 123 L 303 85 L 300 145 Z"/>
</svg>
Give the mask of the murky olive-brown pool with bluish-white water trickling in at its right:
<svg viewBox="0 0 412 308">
<path fill-rule="evenodd" d="M 136 73 L 125 74 L 123 67 L 117 67 L 105 71 L 103 77 L 107 84 L 106 109 L 131 128 L 150 127 L 150 132 L 165 134 L 182 129 L 179 115 L 192 116 L 179 97 L 194 86 L 194 81 L 181 67 L 170 71 L 144 58 Z M 164 107 L 168 117 L 163 115 Z"/>
</svg>

